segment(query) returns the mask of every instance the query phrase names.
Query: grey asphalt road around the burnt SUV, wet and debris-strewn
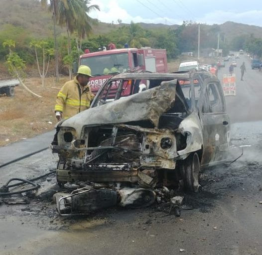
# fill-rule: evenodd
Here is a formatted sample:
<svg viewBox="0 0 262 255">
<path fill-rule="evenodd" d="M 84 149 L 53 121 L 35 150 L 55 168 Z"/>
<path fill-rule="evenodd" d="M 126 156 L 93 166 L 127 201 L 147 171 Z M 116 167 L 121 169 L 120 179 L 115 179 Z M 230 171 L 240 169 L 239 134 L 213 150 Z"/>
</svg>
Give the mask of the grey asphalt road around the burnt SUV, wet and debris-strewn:
<svg viewBox="0 0 262 255">
<path fill-rule="evenodd" d="M 240 81 L 243 61 L 247 73 Z M 237 96 L 226 98 L 233 123 L 229 159 L 242 149 L 244 154 L 231 165 L 202 173 L 201 191 L 185 196 L 185 209 L 192 210 L 181 210 L 181 216 L 175 217 L 154 206 L 113 208 L 61 218 L 51 195 L 44 192 L 29 204 L 0 205 L 0 254 L 262 255 L 262 74 L 251 70 L 245 56 L 237 62 Z M 55 163 L 49 150 L 42 151 L 0 168 L 0 183 L 13 175 L 41 174 Z M 54 178 L 44 179 L 43 191 L 54 190 L 54 183 Z"/>
</svg>

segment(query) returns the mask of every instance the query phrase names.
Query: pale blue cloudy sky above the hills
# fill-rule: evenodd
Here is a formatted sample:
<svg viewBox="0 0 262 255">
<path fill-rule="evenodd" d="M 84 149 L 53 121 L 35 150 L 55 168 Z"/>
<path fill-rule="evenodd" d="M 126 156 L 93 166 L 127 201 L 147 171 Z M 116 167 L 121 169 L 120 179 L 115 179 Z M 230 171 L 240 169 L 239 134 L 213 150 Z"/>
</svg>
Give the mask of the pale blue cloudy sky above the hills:
<svg viewBox="0 0 262 255">
<path fill-rule="evenodd" d="M 262 0 L 91 0 L 101 11 L 89 15 L 102 22 L 144 22 L 167 25 L 193 20 L 206 24 L 226 21 L 262 26 Z"/>
</svg>

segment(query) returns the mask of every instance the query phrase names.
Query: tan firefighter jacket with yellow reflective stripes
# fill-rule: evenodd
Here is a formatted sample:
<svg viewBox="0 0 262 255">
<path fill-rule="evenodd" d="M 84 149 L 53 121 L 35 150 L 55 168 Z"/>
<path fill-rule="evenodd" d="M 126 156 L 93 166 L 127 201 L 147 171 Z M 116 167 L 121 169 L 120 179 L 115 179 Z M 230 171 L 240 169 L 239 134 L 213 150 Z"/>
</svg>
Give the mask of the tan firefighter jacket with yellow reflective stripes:
<svg viewBox="0 0 262 255">
<path fill-rule="evenodd" d="M 81 92 L 81 86 L 75 77 L 74 80 L 66 82 L 58 92 L 55 112 L 62 112 L 63 119 L 68 119 L 88 109 L 94 97 L 88 85 Z"/>
</svg>

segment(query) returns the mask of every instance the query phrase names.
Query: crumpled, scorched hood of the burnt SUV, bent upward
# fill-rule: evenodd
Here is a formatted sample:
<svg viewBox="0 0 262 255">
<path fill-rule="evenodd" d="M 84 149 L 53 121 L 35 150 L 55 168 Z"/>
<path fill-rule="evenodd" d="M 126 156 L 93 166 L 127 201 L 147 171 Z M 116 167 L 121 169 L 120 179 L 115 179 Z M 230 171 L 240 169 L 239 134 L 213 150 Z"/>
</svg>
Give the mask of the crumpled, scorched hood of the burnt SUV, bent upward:
<svg viewBox="0 0 262 255">
<path fill-rule="evenodd" d="M 75 128 L 78 136 L 86 126 L 148 120 L 157 127 L 160 116 L 175 101 L 176 83 L 177 80 L 162 82 L 158 87 L 90 108 L 65 120 L 60 126 Z"/>
</svg>

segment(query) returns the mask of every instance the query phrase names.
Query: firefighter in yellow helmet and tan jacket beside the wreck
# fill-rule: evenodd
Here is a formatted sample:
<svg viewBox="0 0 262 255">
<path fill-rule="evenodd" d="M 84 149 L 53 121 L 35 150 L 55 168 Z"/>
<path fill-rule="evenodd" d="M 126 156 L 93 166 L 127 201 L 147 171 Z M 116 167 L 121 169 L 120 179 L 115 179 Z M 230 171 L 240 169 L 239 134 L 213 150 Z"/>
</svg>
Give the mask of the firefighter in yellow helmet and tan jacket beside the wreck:
<svg viewBox="0 0 262 255">
<path fill-rule="evenodd" d="M 68 81 L 57 94 L 55 115 L 58 121 L 68 119 L 90 107 L 94 94 L 87 85 L 91 76 L 91 69 L 81 65 L 74 80 Z"/>
</svg>

